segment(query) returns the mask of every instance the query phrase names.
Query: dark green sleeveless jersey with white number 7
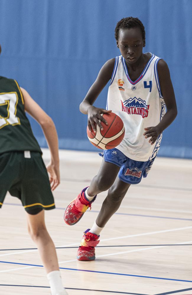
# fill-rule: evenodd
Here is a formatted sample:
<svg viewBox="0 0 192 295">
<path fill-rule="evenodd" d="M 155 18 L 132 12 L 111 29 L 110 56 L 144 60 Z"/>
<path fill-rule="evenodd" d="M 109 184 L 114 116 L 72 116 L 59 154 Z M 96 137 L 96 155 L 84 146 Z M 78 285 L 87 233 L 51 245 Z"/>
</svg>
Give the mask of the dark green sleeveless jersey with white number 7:
<svg viewBox="0 0 192 295">
<path fill-rule="evenodd" d="M 0 76 L 0 154 L 25 150 L 42 153 L 26 117 L 17 81 Z"/>
</svg>

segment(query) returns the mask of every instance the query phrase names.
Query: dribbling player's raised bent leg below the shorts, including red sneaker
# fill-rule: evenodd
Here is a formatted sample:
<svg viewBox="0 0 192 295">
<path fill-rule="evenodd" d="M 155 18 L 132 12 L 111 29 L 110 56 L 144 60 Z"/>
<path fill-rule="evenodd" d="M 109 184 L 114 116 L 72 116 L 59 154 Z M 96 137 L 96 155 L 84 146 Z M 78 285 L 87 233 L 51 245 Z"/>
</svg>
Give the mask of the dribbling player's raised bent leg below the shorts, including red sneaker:
<svg viewBox="0 0 192 295">
<path fill-rule="evenodd" d="M 112 186 L 119 169 L 119 164 L 116 165 L 106 162 L 104 159 L 102 160 L 100 170 L 92 179 L 90 186 L 84 188 L 77 198 L 67 206 L 64 213 L 64 220 L 67 224 L 76 224 L 82 218 L 84 212 L 95 201 L 97 194 L 108 190 Z"/>
</svg>

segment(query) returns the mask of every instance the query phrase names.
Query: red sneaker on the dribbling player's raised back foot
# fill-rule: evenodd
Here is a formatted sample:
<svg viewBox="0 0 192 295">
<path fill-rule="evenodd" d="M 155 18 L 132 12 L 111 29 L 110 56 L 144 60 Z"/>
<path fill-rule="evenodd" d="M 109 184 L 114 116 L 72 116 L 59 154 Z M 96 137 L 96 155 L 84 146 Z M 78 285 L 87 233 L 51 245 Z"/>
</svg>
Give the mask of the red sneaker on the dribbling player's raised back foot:
<svg viewBox="0 0 192 295">
<path fill-rule="evenodd" d="M 97 195 L 92 199 L 91 202 L 88 201 L 84 194 L 87 187 L 84 188 L 82 192 L 77 196 L 77 198 L 74 199 L 67 206 L 64 213 L 64 221 L 66 224 L 68 225 L 76 224 L 82 218 L 83 214 L 89 207 L 91 210 L 91 204 L 95 201 Z"/>
</svg>

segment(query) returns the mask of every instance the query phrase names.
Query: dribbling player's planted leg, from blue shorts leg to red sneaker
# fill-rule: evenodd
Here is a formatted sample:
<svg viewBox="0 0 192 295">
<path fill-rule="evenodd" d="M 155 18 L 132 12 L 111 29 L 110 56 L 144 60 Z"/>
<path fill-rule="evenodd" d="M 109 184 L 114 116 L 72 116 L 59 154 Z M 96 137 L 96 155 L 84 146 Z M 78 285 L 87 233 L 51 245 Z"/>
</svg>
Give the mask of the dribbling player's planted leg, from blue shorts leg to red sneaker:
<svg viewBox="0 0 192 295">
<path fill-rule="evenodd" d="M 119 208 L 130 184 L 137 184 L 142 176 L 146 177 L 152 161 L 135 161 L 127 158 L 121 166 L 118 178 L 109 189 L 108 195 L 91 229 L 84 232 L 83 239 L 77 253 L 78 260 L 94 260 L 95 246 L 99 243 L 99 235 L 110 217 Z"/>
</svg>

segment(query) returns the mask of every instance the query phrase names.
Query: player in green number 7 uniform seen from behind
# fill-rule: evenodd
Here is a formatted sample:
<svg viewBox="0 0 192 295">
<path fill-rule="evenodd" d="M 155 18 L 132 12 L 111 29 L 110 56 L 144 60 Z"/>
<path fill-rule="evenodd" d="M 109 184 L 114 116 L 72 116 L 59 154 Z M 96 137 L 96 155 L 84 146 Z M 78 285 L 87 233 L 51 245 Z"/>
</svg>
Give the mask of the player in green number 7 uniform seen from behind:
<svg viewBox="0 0 192 295">
<path fill-rule="evenodd" d="M 1 47 L 0 47 L 1 53 Z M 42 127 L 51 151 L 47 170 L 28 112 Z M 59 182 L 58 139 L 52 119 L 16 80 L 0 76 L 0 207 L 6 192 L 16 196 L 27 212 L 27 226 L 47 272 L 52 295 L 66 295 L 55 246 L 45 227 L 44 209 L 55 208 L 51 189 Z M 50 174 L 50 182 L 47 171 Z M 51 186 L 50 186 L 51 183 Z"/>
</svg>

